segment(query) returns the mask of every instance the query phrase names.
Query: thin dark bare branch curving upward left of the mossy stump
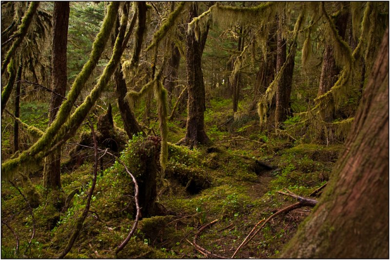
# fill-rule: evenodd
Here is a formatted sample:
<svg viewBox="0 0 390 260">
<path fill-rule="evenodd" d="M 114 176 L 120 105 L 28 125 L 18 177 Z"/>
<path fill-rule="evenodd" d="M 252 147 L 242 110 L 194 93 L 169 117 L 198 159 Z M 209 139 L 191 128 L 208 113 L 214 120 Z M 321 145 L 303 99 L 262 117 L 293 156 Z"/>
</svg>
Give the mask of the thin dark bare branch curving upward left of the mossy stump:
<svg viewBox="0 0 390 260">
<path fill-rule="evenodd" d="M 95 189 L 95 186 L 96 186 L 96 179 L 98 177 L 98 141 L 96 139 L 94 125 L 91 122 L 91 119 L 89 117 L 88 117 L 88 122 L 89 122 L 89 126 L 91 128 L 91 133 L 92 133 L 92 137 L 93 137 L 93 140 L 94 140 L 94 149 L 95 149 L 95 153 L 94 153 L 94 157 L 95 157 L 94 178 L 92 180 L 92 186 L 91 186 L 91 188 L 90 188 L 90 190 L 88 192 L 87 203 L 85 204 L 84 211 L 82 212 L 81 217 L 76 222 L 76 227 L 73 230 L 73 234 L 71 235 L 71 237 L 70 237 L 70 239 L 68 241 L 68 244 L 66 245 L 64 251 L 62 251 L 62 253 L 59 254 L 58 258 L 64 258 L 66 256 L 66 254 L 69 253 L 69 251 L 72 249 L 73 244 L 75 243 L 76 239 L 78 238 L 78 235 L 80 234 L 80 231 L 82 229 L 83 223 L 85 221 L 85 218 L 88 215 L 89 208 L 91 206 L 92 195 L 94 193 L 94 189 Z"/>
</svg>

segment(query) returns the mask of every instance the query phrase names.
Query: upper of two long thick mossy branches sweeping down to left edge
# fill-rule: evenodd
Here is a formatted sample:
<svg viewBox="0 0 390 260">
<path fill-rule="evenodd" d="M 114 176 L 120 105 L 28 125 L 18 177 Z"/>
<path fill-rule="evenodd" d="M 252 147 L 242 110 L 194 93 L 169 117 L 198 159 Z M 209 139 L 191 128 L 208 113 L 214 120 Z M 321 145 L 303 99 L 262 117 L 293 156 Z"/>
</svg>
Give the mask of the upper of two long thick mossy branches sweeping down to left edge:
<svg viewBox="0 0 390 260">
<path fill-rule="evenodd" d="M 88 62 L 84 65 L 81 72 L 75 79 L 70 92 L 67 95 L 67 99 L 62 103 L 55 121 L 49 126 L 42 137 L 29 149 L 23 151 L 19 157 L 10 159 L 1 164 L 1 171 L 5 176 L 12 176 L 13 172 L 23 164 L 36 163 L 38 160 L 37 154 L 41 151 L 50 149 L 52 141 L 59 132 L 61 126 L 69 118 L 69 114 L 72 110 L 74 103 L 76 102 L 79 93 L 87 82 L 92 71 L 98 64 L 98 60 L 104 51 L 107 39 L 110 37 L 111 29 L 115 23 L 118 14 L 119 2 L 112 2 L 109 5 L 107 15 L 103 20 L 100 32 L 98 33 L 96 40 L 93 44 L 92 53 Z M 92 93 L 91 93 L 92 94 Z M 41 153 L 39 157 L 42 157 Z"/>
</svg>

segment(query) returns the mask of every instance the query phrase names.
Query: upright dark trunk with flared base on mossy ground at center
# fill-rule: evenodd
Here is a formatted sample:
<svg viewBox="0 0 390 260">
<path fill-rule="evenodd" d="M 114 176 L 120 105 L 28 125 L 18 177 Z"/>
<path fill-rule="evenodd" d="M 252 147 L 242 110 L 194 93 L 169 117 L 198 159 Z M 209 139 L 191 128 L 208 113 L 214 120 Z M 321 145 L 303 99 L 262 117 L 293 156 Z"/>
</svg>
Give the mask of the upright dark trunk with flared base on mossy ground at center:
<svg viewBox="0 0 390 260">
<path fill-rule="evenodd" d="M 197 17 L 197 3 L 191 4 L 188 22 Z M 206 31 L 207 33 L 207 31 Z M 195 32 L 187 32 L 186 35 L 186 69 L 188 84 L 188 116 L 185 137 L 180 144 L 190 147 L 197 144 L 207 145 L 211 140 L 204 130 L 205 87 L 202 73 L 202 51 L 207 34 L 199 33 L 199 40 L 195 38 Z"/>
</svg>

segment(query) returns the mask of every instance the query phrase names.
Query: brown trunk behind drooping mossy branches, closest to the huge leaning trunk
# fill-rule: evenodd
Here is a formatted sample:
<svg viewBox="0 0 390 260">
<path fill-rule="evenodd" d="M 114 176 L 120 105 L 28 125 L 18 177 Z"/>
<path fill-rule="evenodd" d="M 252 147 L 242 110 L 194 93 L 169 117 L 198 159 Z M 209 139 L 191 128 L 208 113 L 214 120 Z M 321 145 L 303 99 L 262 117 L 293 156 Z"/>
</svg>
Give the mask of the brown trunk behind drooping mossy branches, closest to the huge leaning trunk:
<svg viewBox="0 0 390 260">
<path fill-rule="evenodd" d="M 347 30 L 349 12 L 345 5 L 341 8 L 341 13 L 335 20 L 336 29 L 340 37 L 344 39 Z M 334 51 L 330 43 L 325 45 L 325 51 L 323 56 L 322 70 L 320 76 L 320 83 L 318 87 L 317 97 L 327 93 L 331 87 L 336 83 L 340 68 L 336 65 L 334 60 Z M 331 122 L 333 120 L 333 113 L 321 112 L 322 120 L 325 122 Z"/>
</svg>

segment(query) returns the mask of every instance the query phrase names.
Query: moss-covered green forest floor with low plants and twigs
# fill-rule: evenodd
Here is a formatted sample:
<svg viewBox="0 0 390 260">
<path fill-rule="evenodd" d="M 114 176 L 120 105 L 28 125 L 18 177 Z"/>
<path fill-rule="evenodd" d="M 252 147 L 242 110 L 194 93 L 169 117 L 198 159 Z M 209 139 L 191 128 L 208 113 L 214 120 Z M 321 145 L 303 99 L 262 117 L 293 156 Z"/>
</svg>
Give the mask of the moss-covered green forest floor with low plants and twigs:
<svg viewBox="0 0 390 260">
<path fill-rule="evenodd" d="M 304 144 L 268 134 L 255 117 L 242 116 L 226 123 L 233 115 L 231 104 L 230 99 L 209 101 L 205 124 L 214 142 L 212 148 L 173 145 L 185 134 L 185 115 L 169 123 L 167 177 L 157 182 L 156 201 L 162 214 L 142 218 L 135 235 L 117 256 L 116 246 L 134 223 L 130 206 L 134 193 L 131 179 L 117 164 L 104 167 L 90 214 L 66 258 L 231 258 L 256 223 L 296 202 L 277 191 L 288 189 L 309 198 L 327 182 L 342 145 Z M 132 158 L 131 144 L 122 154 L 130 157 L 122 159 Z M 2 258 L 54 258 L 63 250 L 85 206 L 92 159 L 62 173 L 64 193 L 79 191 L 62 213 L 49 200 L 41 199 L 32 218 L 18 190 L 2 181 Z M 43 194 L 41 172 L 30 177 L 36 191 Z M 27 187 L 20 190 L 28 192 Z M 311 207 L 301 207 L 274 217 L 235 257 L 277 256 L 311 211 Z M 34 226 L 35 236 L 29 244 Z M 19 251 L 15 254 L 17 241 Z"/>
</svg>

